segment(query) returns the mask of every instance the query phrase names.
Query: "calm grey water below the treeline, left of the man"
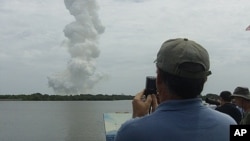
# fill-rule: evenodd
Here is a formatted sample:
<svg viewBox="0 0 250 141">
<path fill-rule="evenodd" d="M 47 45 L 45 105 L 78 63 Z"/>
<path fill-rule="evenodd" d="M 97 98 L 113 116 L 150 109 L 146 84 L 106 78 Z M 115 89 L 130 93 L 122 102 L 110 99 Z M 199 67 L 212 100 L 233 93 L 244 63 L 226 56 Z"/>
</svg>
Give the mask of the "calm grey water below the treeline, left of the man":
<svg viewBox="0 0 250 141">
<path fill-rule="evenodd" d="M 103 113 L 125 101 L 0 101 L 0 141 L 105 141 Z"/>
</svg>

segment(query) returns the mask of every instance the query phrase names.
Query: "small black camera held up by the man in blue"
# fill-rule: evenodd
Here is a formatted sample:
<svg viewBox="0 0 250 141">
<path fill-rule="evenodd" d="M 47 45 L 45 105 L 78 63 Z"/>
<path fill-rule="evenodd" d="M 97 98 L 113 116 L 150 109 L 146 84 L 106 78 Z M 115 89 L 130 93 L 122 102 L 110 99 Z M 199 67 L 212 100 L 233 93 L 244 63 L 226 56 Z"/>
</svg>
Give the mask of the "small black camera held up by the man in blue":
<svg viewBox="0 0 250 141">
<path fill-rule="evenodd" d="M 150 94 L 156 94 L 156 77 L 155 76 L 147 76 L 146 77 L 146 88 L 144 91 L 144 95 L 147 97 Z"/>
</svg>

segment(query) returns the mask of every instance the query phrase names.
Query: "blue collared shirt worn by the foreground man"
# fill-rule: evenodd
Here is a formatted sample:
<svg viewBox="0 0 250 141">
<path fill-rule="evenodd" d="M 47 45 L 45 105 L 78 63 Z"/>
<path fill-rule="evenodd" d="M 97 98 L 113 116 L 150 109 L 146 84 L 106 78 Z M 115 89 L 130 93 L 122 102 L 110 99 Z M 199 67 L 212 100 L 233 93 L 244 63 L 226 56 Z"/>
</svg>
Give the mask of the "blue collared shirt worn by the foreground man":
<svg viewBox="0 0 250 141">
<path fill-rule="evenodd" d="M 229 141 L 230 116 L 199 98 L 161 103 L 150 115 L 125 122 L 115 141 Z"/>
</svg>

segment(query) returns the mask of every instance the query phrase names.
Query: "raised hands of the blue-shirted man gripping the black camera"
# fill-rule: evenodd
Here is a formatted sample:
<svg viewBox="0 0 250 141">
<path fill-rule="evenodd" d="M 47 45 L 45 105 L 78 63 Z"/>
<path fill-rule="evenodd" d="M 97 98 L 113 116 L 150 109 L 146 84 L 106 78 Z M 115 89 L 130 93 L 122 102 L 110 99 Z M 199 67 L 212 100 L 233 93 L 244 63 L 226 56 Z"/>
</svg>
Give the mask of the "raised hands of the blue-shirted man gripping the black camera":
<svg viewBox="0 0 250 141">
<path fill-rule="evenodd" d="M 144 91 L 139 92 L 132 101 L 133 118 L 145 116 L 150 112 L 150 110 L 153 112 L 158 105 L 156 96 L 154 94 L 148 95 L 145 99 L 143 93 Z"/>
</svg>

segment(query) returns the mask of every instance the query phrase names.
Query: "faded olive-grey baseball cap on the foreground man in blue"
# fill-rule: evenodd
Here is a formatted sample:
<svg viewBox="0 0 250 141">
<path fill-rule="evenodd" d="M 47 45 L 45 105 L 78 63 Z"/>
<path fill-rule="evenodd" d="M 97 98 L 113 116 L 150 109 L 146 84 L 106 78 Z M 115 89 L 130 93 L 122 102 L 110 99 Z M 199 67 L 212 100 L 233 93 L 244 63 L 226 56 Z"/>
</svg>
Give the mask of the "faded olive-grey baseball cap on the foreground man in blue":
<svg viewBox="0 0 250 141">
<path fill-rule="evenodd" d="M 165 41 L 155 60 L 161 70 L 173 75 L 186 78 L 205 78 L 211 74 L 209 71 L 209 55 L 205 48 L 195 41 L 187 38 L 176 38 Z M 182 69 L 182 64 L 189 63 L 202 66 L 198 71 L 195 68 Z"/>
</svg>

